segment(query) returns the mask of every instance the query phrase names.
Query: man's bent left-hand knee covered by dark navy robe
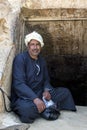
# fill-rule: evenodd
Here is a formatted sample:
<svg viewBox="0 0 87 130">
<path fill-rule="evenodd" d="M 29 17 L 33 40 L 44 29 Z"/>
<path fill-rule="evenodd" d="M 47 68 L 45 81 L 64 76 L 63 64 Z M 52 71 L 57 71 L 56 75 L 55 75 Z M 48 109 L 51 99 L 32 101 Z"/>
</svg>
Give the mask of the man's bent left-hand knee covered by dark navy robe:
<svg viewBox="0 0 87 130">
<path fill-rule="evenodd" d="M 20 101 L 14 111 L 23 123 L 32 123 L 38 116 L 38 110 L 32 102 Z"/>
</svg>

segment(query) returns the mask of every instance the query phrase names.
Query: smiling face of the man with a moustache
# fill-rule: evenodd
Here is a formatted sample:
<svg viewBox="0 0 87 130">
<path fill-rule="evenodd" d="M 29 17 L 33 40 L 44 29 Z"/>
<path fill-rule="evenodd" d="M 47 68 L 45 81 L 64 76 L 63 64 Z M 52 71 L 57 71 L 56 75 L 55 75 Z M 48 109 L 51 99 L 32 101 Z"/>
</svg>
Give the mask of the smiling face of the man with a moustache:
<svg viewBox="0 0 87 130">
<path fill-rule="evenodd" d="M 28 51 L 30 56 L 36 59 L 41 51 L 40 43 L 37 40 L 32 39 L 28 44 Z"/>
</svg>

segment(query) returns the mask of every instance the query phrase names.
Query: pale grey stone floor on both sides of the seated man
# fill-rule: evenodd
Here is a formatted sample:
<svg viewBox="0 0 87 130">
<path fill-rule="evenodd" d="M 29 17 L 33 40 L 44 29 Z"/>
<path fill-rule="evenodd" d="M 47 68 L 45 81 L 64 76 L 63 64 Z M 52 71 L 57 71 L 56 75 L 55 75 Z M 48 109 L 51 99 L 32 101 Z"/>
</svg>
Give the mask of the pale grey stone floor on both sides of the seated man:
<svg viewBox="0 0 87 130">
<path fill-rule="evenodd" d="M 0 129 L 13 124 L 20 124 L 14 113 L 0 114 Z M 77 106 L 77 112 L 61 111 L 58 120 L 47 121 L 42 118 L 30 124 L 29 130 L 87 130 L 87 107 Z"/>
</svg>

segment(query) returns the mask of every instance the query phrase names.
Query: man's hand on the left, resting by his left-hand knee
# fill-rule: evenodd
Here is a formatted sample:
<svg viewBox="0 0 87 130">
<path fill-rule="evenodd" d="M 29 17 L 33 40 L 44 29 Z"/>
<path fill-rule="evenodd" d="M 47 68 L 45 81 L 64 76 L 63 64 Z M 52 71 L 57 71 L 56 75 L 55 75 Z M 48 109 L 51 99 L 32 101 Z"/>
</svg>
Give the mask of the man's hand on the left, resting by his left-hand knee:
<svg viewBox="0 0 87 130">
<path fill-rule="evenodd" d="M 37 109 L 38 109 L 39 113 L 41 113 L 41 112 L 43 112 L 45 110 L 46 106 L 45 106 L 44 102 L 41 99 L 35 98 L 34 103 L 37 106 Z"/>
</svg>

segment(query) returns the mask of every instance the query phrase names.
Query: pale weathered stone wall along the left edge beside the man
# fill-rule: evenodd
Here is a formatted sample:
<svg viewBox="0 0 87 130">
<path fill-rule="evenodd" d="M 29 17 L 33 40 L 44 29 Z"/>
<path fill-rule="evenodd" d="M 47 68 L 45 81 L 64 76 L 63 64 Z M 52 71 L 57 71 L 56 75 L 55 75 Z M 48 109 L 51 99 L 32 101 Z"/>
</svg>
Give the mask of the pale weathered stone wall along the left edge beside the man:
<svg viewBox="0 0 87 130">
<path fill-rule="evenodd" d="M 19 17 L 21 0 L 0 0 L 0 88 L 10 95 L 12 62 L 15 56 L 14 35 Z M 8 105 L 6 99 L 6 104 Z M 4 111 L 4 100 L 0 91 L 0 112 Z"/>
</svg>

